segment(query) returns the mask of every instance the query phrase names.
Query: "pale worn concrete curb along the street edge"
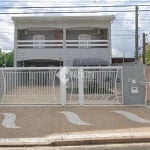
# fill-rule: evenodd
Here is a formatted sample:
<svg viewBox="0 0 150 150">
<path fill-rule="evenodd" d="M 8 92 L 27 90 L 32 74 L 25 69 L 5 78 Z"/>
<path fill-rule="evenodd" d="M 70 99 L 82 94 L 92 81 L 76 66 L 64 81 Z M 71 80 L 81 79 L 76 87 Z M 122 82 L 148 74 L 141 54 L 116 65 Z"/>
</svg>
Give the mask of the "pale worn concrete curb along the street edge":
<svg viewBox="0 0 150 150">
<path fill-rule="evenodd" d="M 150 142 L 150 132 L 107 132 L 97 134 L 60 134 L 41 138 L 5 138 L 0 139 L 0 147 L 72 146 L 146 142 Z"/>
</svg>

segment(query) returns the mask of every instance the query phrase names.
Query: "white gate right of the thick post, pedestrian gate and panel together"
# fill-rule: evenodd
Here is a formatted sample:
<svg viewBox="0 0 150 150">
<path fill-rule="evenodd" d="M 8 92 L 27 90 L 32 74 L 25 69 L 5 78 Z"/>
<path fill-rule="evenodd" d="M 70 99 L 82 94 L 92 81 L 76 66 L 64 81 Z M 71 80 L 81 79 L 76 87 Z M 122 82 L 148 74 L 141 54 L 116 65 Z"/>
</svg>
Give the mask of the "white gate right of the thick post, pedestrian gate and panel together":
<svg viewBox="0 0 150 150">
<path fill-rule="evenodd" d="M 123 104 L 122 67 L 70 68 L 67 104 Z"/>
</svg>

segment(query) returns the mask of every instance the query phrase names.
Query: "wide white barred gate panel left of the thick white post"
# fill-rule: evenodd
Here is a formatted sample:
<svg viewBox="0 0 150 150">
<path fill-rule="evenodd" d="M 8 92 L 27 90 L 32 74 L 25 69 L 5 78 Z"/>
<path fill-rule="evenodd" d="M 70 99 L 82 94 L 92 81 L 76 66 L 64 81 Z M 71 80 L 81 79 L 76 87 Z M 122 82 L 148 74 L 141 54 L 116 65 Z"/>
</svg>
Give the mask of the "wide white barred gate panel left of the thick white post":
<svg viewBox="0 0 150 150">
<path fill-rule="evenodd" d="M 5 69 L 3 104 L 60 104 L 57 68 Z"/>
</svg>

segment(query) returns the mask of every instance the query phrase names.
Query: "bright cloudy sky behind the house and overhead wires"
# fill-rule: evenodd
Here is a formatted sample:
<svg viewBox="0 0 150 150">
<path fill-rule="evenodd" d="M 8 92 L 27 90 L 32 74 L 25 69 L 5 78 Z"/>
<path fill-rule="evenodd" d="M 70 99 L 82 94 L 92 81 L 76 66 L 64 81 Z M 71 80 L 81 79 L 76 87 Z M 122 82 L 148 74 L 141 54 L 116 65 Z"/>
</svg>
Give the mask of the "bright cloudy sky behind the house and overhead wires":
<svg viewBox="0 0 150 150">
<path fill-rule="evenodd" d="M 142 3 L 141 0 L 137 0 L 139 1 L 139 3 Z M 145 2 L 146 0 L 144 0 Z M 25 12 L 30 12 L 30 13 L 34 13 L 35 9 L 14 9 L 13 7 L 16 6 L 31 6 L 31 7 L 40 7 L 40 6 L 70 6 L 70 5 L 124 5 L 124 4 L 135 4 L 133 1 L 130 0 L 42 0 L 42 1 L 38 1 L 37 0 L 26 0 L 23 2 L 17 2 L 17 3 L 13 3 L 12 8 L 11 9 L 7 9 L 5 10 L 8 13 L 14 12 L 14 13 L 25 13 Z M 142 3 L 142 4 L 149 4 L 149 1 Z M 150 7 L 140 7 L 140 9 L 149 9 Z M 109 9 L 113 9 L 113 8 L 88 8 L 86 9 L 86 11 L 100 11 L 100 10 L 109 10 Z M 123 10 L 128 10 L 128 9 L 132 9 L 134 10 L 134 7 L 132 8 L 122 8 Z M 78 9 L 45 9 L 44 11 L 58 11 L 58 10 L 68 10 L 68 11 L 85 11 L 85 8 L 78 8 Z M 43 11 L 41 9 L 39 9 L 38 11 Z M 150 16 L 149 12 L 146 12 L 147 16 Z M 116 20 L 113 22 L 112 24 L 112 48 L 113 48 L 113 56 L 122 56 L 123 50 L 125 50 L 126 52 L 126 56 L 133 56 L 134 55 L 134 47 L 135 47 L 135 42 L 134 42 L 134 30 L 135 30 L 135 25 L 134 25 L 134 18 L 135 18 L 135 13 L 131 13 L 131 12 L 125 12 L 125 13 L 116 13 L 116 12 L 110 12 L 110 13 L 99 13 L 99 14 L 114 14 L 116 15 Z M 0 15 L 0 47 L 2 47 L 3 49 L 12 49 L 13 50 L 13 22 L 11 20 L 11 16 L 23 16 L 27 14 L 16 14 L 16 15 Z M 31 15 L 31 14 L 30 14 Z M 40 14 L 40 15 L 45 15 L 45 14 Z M 49 14 L 47 14 L 49 15 Z M 55 15 L 55 14 L 53 14 Z M 62 13 L 60 15 L 66 15 L 65 13 Z M 75 14 L 72 14 L 75 15 Z M 81 15 L 81 14 L 77 14 L 77 15 Z M 89 14 L 86 14 L 89 15 Z M 143 18 L 145 18 L 145 12 L 140 12 L 139 15 L 139 20 L 142 20 Z M 147 29 L 149 29 L 149 23 L 148 22 L 139 22 L 139 26 L 140 26 L 140 40 L 141 40 L 141 34 L 142 32 L 146 32 L 148 34 L 150 34 L 150 31 L 147 31 Z M 8 32 L 8 33 L 5 33 Z M 119 36 L 117 36 L 119 35 Z M 122 35 L 122 36 L 121 36 Z M 124 36 L 124 35 L 131 35 L 131 36 Z"/>
</svg>

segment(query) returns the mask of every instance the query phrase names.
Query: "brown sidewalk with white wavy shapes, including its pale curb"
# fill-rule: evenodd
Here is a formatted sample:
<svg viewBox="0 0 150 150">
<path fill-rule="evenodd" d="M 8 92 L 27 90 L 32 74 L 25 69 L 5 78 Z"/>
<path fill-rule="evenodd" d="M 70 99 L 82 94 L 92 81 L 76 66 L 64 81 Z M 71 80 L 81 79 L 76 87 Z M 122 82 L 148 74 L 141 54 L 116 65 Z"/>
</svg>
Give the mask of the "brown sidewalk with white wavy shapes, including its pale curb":
<svg viewBox="0 0 150 150">
<path fill-rule="evenodd" d="M 1 146 L 150 141 L 144 106 L 1 106 L 0 122 Z"/>
</svg>

